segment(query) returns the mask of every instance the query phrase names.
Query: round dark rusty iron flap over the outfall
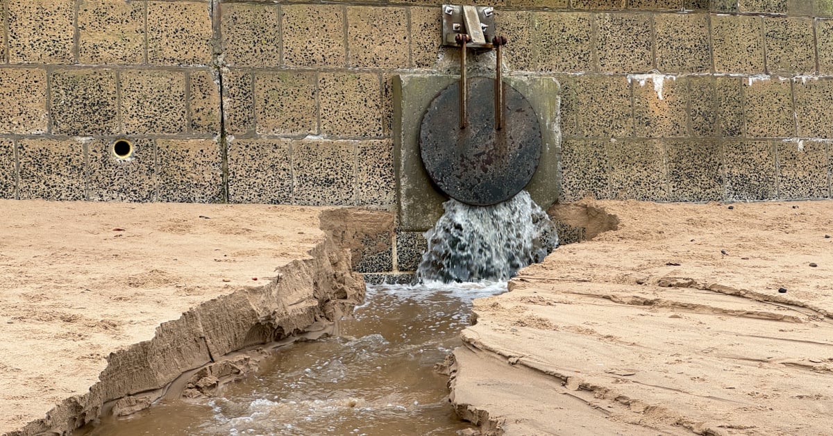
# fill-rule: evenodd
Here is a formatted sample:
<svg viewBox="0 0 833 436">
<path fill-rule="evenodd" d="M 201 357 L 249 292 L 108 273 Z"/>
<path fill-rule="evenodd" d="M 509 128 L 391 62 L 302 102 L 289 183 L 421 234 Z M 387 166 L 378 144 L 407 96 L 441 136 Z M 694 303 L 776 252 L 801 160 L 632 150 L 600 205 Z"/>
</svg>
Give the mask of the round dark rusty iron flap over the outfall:
<svg viewBox="0 0 833 436">
<path fill-rule="evenodd" d="M 420 128 L 422 163 L 451 198 L 486 206 L 521 192 L 538 168 L 541 126 L 526 98 L 503 83 L 504 127 L 495 130 L 495 81 L 469 81 L 468 127 L 460 128 L 459 83 L 434 98 Z"/>
</svg>

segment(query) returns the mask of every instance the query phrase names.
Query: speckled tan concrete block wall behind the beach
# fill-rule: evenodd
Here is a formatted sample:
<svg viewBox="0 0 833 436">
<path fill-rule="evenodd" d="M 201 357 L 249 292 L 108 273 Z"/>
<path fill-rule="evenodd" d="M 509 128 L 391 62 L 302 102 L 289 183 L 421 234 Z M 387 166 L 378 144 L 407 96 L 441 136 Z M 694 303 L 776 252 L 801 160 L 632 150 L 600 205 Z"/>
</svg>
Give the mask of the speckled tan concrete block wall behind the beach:
<svg viewBox="0 0 833 436">
<path fill-rule="evenodd" d="M 392 77 L 457 72 L 440 4 L 0 0 L 0 198 L 392 210 Z M 831 197 L 833 0 L 471 4 L 561 83 L 561 202 Z"/>
</svg>

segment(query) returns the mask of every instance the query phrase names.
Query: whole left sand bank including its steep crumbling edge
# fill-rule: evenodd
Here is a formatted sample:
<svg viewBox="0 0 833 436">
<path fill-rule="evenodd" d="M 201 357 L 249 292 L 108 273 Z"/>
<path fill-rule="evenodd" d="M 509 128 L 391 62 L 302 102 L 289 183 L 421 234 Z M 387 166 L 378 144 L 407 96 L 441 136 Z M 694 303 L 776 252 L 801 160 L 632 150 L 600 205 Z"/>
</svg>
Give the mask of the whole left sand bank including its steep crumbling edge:
<svg viewBox="0 0 833 436">
<path fill-rule="evenodd" d="M 342 211 L 325 232 L 326 208 L 2 200 L 0 209 L 2 434 L 70 431 L 118 398 L 127 399 L 113 413 L 146 407 L 182 373 L 236 350 L 327 331 L 364 295 L 332 236 L 361 233 Z M 207 374 L 249 365 L 217 364 Z"/>
</svg>

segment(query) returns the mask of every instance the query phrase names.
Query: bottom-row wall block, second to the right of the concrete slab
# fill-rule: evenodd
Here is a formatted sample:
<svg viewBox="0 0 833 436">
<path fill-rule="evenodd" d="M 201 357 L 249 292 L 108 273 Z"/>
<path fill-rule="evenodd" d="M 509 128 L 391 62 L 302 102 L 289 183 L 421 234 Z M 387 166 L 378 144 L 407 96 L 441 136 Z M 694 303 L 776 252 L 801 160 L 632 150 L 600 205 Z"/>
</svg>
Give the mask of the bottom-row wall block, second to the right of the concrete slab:
<svg viewBox="0 0 833 436">
<path fill-rule="evenodd" d="M 605 144 L 612 198 L 668 199 L 665 150 L 656 140 L 611 140 Z"/>
</svg>

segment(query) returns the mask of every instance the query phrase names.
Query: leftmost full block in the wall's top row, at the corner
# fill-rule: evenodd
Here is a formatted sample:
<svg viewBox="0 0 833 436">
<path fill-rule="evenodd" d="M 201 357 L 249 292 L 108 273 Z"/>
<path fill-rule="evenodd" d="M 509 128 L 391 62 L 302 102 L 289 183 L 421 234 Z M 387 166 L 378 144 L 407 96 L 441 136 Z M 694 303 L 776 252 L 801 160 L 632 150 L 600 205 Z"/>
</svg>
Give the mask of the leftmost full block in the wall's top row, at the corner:
<svg viewBox="0 0 833 436">
<path fill-rule="evenodd" d="M 72 63 L 75 0 L 7 0 L 10 63 Z"/>
</svg>

